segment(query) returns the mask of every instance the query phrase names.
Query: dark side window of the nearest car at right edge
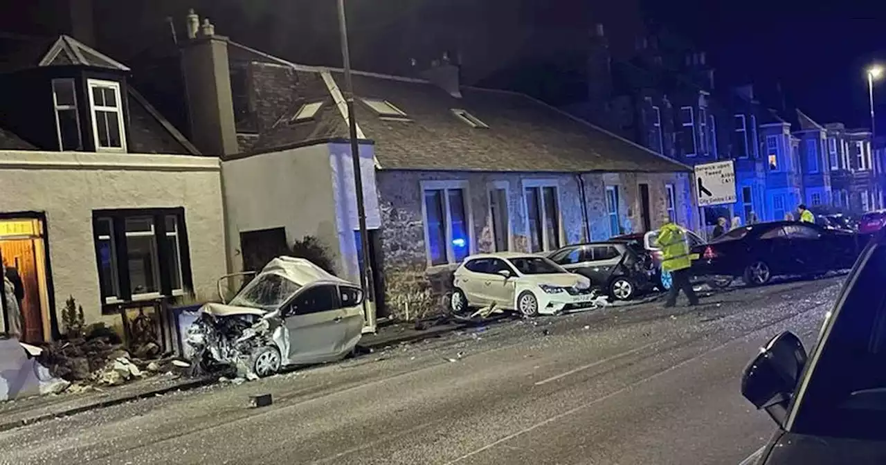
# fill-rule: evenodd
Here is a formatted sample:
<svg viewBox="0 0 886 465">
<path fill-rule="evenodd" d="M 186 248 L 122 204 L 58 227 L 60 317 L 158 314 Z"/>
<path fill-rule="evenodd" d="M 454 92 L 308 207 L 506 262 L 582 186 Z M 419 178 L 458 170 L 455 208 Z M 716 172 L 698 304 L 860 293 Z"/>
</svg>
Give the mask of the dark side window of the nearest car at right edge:
<svg viewBox="0 0 886 465">
<path fill-rule="evenodd" d="M 797 399 L 793 431 L 886 438 L 886 247 L 857 265 Z"/>
</svg>

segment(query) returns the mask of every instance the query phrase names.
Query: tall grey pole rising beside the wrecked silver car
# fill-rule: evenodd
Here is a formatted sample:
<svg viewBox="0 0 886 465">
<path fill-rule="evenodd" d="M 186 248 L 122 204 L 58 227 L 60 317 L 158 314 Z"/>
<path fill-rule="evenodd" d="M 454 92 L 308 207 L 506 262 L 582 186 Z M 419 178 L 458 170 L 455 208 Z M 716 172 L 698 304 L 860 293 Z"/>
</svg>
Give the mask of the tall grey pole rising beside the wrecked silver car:
<svg viewBox="0 0 886 465">
<path fill-rule="evenodd" d="M 357 142 L 357 118 L 354 114 L 354 82 L 351 80 L 351 54 L 347 49 L 347 21 L 345 0 L 338 0 L 338 32 L 341 35 L 341 59 L 345 68 L 345 105 L 351 140 L 351 159 L 354 161 L 354 190 L 357 196 L 357 216 L 360 219 L 360 242 L 363 266 L 360 267 L 360 287 L 363 291 L 363 318 L 375 328 L 376 315 L 369 312 L 369 301 L 375 302 L 372 289 L 372 266 L 369 262 L 369 235 L 366 230 L 366 205 L 363 203 L 363 178 L 360 164 L 360 144 Z"/>
</svg>

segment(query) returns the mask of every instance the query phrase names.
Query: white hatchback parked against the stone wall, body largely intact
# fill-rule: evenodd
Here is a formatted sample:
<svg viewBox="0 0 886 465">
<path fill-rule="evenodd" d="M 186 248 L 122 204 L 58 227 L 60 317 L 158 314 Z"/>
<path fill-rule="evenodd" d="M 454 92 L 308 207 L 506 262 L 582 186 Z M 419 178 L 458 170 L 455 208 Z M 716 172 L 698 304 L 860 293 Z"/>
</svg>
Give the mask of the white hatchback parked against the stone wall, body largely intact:
<svg viewBox="0 0 886 465">
<path fill-rule="evenodd" d="M 498 252 L 471 255 L 455 269 L 452 309 L 497 306 L 526 316 L 558 314 L 594 305 L 587 277 L 563 269 L 546 257 Z"/>
</svg>

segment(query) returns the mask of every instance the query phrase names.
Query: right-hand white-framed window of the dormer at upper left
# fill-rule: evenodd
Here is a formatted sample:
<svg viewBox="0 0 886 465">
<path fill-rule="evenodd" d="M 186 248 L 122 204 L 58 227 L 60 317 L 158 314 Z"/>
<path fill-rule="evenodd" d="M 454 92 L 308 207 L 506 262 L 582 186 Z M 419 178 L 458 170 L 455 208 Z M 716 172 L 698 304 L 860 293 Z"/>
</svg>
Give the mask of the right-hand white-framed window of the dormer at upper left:
<svg viewBox="0 0 886 465">
<path fill-rule="evenodd" d="M 120 83 L 87 80 L 96 151 L 126 151 Z"/>
</svg>

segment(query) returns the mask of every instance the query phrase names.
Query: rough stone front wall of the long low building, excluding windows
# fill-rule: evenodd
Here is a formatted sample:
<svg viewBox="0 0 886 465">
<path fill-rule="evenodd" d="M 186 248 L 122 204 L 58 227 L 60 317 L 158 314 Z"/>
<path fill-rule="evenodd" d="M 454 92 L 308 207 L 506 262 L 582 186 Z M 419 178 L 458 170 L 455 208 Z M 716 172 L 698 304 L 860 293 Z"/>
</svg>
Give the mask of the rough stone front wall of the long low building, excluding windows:
<svg viewBox="0 0 886 465">
<path fill-rule="evenodd" d="M 451 263 L 430 267 L 425 247 L 422 204 L 422 182 L 461 181 L 467 183 L 470 198 L 470 253 L 493 252 L 494 238 L 489 214 L 488 190 L 492 183 L 508 186 L 510 250 L 529 252 L 524 182 L 545 180 L 556 182 L 559 193 L 561 236 L 560 244 L 586 242 L 587 225 L 581 205 L 580 186 L 585 188 L 590 240 L 610 237 L 609 216 L 606 210 L 605 186 L 615 184 L 623 192 L 620 198 L 619 218 L 633 210 L 634 229 L 641 229 L 638 183 L 649 183 L 651 223 L 657 228 L 667 217 L 665 184 L 675 187 L 678 221 L 692 220 L 692 194 L 688 174 L 516 174 L 464 173 L 427 171 L 378 171 L 377 190 L 382 222 L 382 248 L 385 275 L 385 302 L 387 313 L 404 317 L 426 315 L 442 310 L 439 290 L 431 289 L 430 272 L 454 269 Z M 532 182 L 532 181 L 531 181 Z"/>
</svg>

